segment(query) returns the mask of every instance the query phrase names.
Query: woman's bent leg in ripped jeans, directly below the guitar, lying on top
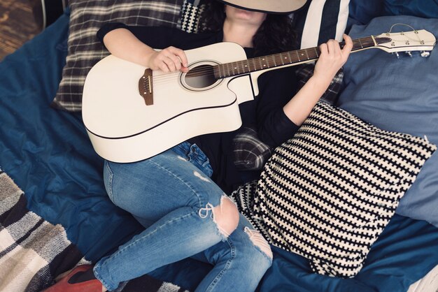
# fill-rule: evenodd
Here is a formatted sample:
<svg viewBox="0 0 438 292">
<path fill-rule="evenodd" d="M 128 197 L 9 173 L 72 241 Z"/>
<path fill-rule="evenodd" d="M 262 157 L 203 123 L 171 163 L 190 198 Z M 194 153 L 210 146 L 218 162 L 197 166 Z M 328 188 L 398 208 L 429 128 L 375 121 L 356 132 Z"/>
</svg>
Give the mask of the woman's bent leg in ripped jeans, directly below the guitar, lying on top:
<svg viewBox="0 0 438 292">
<path fill-rule="evenodd" d="M 204 155 L 192 152 L 197 162 Z M 94 275 L 110 290 L 226 240 L 239 222 L 236 206 L 202 168 L 173 150 L 145 161 L 105 163 L 105 167 L 113 203 L 135 217 L 155 221 L 95 265 Z"/>
</svg>

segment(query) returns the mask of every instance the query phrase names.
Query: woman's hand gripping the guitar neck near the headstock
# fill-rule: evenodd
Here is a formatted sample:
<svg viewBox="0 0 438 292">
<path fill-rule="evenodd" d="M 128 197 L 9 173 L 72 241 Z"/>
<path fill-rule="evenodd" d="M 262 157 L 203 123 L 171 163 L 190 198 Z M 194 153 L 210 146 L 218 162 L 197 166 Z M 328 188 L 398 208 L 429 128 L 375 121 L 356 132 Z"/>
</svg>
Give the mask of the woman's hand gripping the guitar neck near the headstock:
<svg viewBox="0 0 438 292">
<path fill-rule="evenodd" d="M 320 45 L 321 53 L 313 73 L 315 77 L 331 81 L 339 69 L 344 66 L 353 48 L 353 41 L 350 36 L 344 34 L 344 40 L 345 45 L 342 49 L 339 43 L 334 40 Z"/>
</svg>

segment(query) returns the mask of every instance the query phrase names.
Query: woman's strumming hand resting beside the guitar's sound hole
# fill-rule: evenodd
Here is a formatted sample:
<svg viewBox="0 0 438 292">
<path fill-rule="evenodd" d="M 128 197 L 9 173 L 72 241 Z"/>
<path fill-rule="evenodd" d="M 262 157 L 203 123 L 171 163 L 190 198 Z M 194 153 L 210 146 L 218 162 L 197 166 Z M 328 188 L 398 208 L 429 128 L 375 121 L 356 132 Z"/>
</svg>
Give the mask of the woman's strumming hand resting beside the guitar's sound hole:
<svg viewBox="0 0 438 292">
<path fill-rule="evenodd" d="M 148 68 L 163 72 L 188 72 L 188 60 L 185 52 L 175 47 L 153 51 L 148 54 Z"/>
</svg>

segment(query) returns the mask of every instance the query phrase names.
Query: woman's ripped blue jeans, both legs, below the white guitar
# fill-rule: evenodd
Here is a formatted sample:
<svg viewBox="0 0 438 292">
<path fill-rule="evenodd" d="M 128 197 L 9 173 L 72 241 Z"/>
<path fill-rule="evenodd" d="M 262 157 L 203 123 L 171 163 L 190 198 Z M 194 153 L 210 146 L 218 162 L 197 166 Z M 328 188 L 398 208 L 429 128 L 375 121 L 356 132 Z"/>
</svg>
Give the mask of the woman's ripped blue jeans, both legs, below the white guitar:
<svg viewBox="0 0 438 292">
<path fill-rule="evenodd" d="M 192 257 L 213 265 L 196 291 L 254 291 L 271 265 L 271 249 L 241 214 L 231 235 L 220 230 L 213 207 L 227 197 L 212 173 L 206 155 L 187 142 L 136 163 L 106 161 L 108 196 L 146 229 L 101 258 L 94 266 L 97 279 L 111 291 Z"/>
</svg>

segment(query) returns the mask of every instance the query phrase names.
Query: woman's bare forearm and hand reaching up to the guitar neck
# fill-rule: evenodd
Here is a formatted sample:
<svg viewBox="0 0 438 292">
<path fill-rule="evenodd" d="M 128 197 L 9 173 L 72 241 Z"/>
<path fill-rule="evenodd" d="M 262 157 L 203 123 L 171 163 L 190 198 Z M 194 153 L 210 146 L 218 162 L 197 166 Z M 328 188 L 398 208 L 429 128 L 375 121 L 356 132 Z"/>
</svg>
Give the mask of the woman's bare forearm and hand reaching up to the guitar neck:
<svg viewBox="0 0 438 292">
<path fill-rule="evenodd" d="M 320 45 L 320 57 L 315 65 L 313 76 L 304 87 L 283 107 L 285 115 L 298 126 L 309 116 L 311 110 L 330 85 L 334 75 L 344 66 L 353 48 L 353 41 L 344 34 L 346 45 L 343 49 L 337 41 Z"/>
</svg>

